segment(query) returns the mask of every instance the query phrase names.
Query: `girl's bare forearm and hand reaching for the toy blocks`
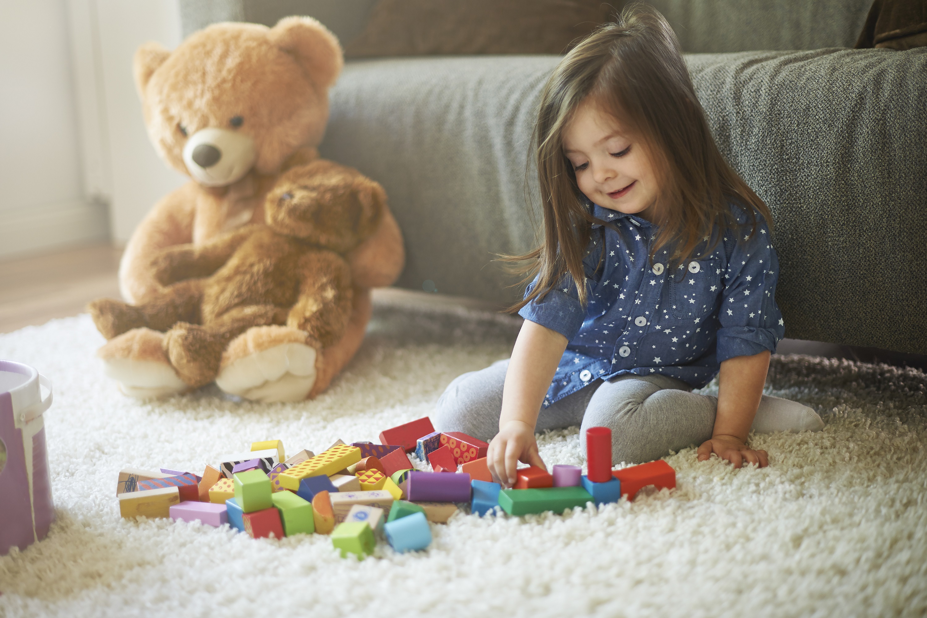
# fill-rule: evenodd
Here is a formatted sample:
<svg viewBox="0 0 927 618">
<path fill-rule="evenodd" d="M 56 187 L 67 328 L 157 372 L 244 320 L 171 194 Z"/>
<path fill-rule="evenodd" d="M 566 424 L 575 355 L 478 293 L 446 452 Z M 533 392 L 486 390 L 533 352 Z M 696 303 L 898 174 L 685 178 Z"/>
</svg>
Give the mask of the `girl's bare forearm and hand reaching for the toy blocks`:
<svg viewBox="0 0 927 618">
<path fill-rule="evenodd" d="M 538 454 L 534 426 L 566 343 L 563 334 L 530 320 L 518 333 L 505 373 L 499 434 L 487 452 L 489 472 L 503 486 L 514 485 L 519 460 L 547 470 Z"/>
</svg>

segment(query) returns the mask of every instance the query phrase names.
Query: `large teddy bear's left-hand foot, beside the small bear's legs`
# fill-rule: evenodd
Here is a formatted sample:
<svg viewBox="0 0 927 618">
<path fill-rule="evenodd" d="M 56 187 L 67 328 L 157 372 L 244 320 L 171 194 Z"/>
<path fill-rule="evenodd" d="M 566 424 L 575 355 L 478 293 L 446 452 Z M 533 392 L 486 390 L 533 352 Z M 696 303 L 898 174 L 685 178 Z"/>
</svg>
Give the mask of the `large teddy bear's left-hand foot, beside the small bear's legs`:
<svg viewBox="0 0 927 618">
<path fill-rule="evenodd" d="M 150 399 L 183 393 L 188 386 L 171 367 L 163 339 L 163 333 L 138 328 L 110 339 L 96 356 L 124 395 Z"/>
</svg>

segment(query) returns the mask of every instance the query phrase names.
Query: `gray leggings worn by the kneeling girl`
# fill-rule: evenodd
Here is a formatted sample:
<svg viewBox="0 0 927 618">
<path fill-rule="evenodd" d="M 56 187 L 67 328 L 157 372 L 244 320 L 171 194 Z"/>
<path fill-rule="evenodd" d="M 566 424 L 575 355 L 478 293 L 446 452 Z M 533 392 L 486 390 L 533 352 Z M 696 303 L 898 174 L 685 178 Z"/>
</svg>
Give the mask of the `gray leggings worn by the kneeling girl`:
<svg viewBox="0 0 927 618">
<path fill-rule="evenodd" d="M 499 432 L 502 385 L 509 361 L 459 375 L 438 399 L 435 428 L 459 431 L 481 440 Z M 579 446 L 586 450 L 586 429 L 612 430 L 612 460 L 652 461 L 709 439 L 715 426 L 717 397 L 690 392 L 691 387 L 666 375 L 621 375 L 593 384 L 541 408 L 536 431 L 580 426 Z M 794 401 L 763 396 L 753 431 L 819 431 L 817 412 Z"/>
</svg>

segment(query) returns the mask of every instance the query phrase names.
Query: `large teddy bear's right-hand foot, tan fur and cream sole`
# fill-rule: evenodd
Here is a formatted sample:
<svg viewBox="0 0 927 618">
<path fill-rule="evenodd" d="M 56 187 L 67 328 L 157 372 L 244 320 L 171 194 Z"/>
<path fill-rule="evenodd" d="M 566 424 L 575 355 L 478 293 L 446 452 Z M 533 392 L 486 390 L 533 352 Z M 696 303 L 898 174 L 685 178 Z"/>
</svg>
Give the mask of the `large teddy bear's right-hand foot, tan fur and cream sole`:
<svg viewBox="0 0 927 618">
<path fill-rule="evenodd" d="M 297 329 L 250 328 L 225 348 L 216 384 L 255 401 L 301 401 L 315 385 L 319 348 Z"/>
</svg>

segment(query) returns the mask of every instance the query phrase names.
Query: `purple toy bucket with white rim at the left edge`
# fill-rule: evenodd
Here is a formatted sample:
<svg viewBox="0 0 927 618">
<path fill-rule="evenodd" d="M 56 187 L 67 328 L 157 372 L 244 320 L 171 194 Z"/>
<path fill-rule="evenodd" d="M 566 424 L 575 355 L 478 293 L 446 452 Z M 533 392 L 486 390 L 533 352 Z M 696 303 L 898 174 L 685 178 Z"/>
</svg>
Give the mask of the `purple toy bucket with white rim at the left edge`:
<svg viewBox="0 0 927 618">
<path fill-rule="evenodd" d="M 40 384 L 48 390 L 44 399 Z M 55 519 L 42 419 L 50 405 L 48 378 L 0 360 L 0 556 L 42 540 Z"/>
</svg>

